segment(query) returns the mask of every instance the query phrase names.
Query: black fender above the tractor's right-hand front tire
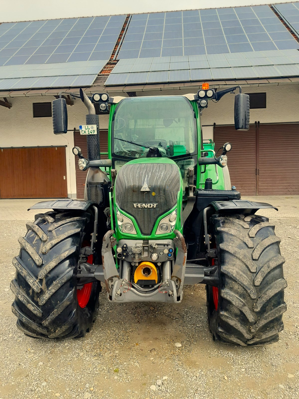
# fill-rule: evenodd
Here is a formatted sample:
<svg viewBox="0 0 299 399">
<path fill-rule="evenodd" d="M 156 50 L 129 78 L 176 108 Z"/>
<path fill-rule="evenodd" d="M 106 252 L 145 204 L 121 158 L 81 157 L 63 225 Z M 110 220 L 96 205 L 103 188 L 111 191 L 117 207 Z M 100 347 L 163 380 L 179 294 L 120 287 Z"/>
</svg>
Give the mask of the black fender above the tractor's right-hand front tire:
<svg viewBox="0 0 299 399">
<path fill-rule="evenodd" d="M 258 209 L 264 208 L 273 208 L 278 211 L 278 209 L 270 205 L 269 203 L 264 202 L 254 202 L 254 201 L 247 201 L 246 199 L 231 199 L 229 201 L 212 201 L 210 203 L 212 207 L 216 211 L 228 211 L 232 212 L 235 211 L 236 213 L 242 211 L 244 213 L 256 213 Z"/>
</svg>

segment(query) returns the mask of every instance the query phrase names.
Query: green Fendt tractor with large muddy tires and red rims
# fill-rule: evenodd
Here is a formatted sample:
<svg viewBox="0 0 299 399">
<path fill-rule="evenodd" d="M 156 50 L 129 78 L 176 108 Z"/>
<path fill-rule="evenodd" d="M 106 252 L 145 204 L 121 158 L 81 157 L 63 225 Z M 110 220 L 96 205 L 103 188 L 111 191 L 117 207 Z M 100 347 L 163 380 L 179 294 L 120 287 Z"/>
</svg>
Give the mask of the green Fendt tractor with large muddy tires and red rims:
<svg viewBox="0 0 299 399">
<path fill-rule="evenodd" d="M 184 284 L 201 283 L 214 340 L 242 346 L 278 340 L 287 309 L 285 260 L 273 223 L 255 214 L 273 206 L 242 200 L 226 166 L 232 144 L 215 152 L 202 136 L 202 112 L 226 93 L 235 94 L 234 123 L 242 134 L 249 96 L 240 86 L 215 91 L 204 83 L 196 94 L 152 97 L 71 94 L 88 109 L 80 126 L 87 154 L 73 148 L 79 169 L 88 170 L 85 198 L 30 208 L 49 211 L 27 223 L 13 259 L 12 311 L 22 332 L 84 337 L 100 317 L 101 283 L 110 302 L 173 305 L 182 301 Z M 95 105 L 110 110 L 108 159 L 100 159 Z M 67 132 L 63 93 L 53 101 L 53 130 Z"/>
</svg>

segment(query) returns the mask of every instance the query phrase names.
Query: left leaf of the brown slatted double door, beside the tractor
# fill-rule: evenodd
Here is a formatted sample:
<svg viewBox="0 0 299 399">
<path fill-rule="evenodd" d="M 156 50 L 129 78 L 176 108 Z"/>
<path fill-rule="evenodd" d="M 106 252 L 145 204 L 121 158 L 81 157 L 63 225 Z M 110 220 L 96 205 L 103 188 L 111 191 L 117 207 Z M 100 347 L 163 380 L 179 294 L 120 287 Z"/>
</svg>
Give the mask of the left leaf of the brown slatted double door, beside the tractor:
<svg viewBox="0 0 299 399">
<path fill-rule="evenodd" d="M 238 132 L 234 126 L 214 128 L 215 150 L 224 143 L 232 143 L 227 154 L 230 181 L 243 195 L 256 195 L 256 127 L 250 125 L 246 132 Z M 221 152 L 218 152 L 218 156 Z"/>
</svg>

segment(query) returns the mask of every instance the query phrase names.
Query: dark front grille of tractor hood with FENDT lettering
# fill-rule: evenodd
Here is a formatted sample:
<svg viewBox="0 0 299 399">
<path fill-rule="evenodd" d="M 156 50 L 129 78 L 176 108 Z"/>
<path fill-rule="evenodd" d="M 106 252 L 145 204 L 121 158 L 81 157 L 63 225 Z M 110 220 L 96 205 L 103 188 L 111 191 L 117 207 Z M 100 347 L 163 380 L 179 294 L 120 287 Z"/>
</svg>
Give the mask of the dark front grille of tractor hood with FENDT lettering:
<svg viewBox="0 0 299 399">
<path fill-rule="evenodd" d="M 134 218 L 141 234 L 150 236 L 157 219 L 177 205 L 181 191 L 181 172 L 173 160 L 140 158 L 118 171 L 114 198 L 120 211 Z"/>
</svg>

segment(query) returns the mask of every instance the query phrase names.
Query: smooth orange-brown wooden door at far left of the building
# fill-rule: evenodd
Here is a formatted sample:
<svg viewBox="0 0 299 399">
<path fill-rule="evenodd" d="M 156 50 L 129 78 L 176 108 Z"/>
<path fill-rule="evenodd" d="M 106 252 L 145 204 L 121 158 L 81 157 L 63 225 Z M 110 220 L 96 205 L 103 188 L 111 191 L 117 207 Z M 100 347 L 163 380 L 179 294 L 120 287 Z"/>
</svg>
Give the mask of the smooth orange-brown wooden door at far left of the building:
<svg viewBox="0 0 299 399">
<path fill-rule="evenodd" d="M 2 148 L 0 198 L 67 198 L 65 146 Z"/>
</svg>

